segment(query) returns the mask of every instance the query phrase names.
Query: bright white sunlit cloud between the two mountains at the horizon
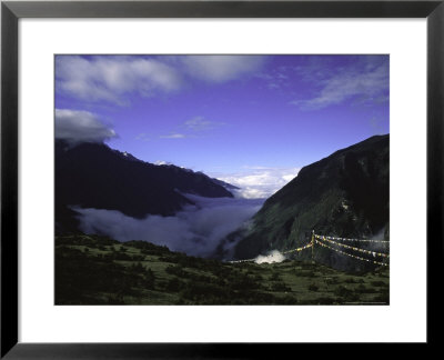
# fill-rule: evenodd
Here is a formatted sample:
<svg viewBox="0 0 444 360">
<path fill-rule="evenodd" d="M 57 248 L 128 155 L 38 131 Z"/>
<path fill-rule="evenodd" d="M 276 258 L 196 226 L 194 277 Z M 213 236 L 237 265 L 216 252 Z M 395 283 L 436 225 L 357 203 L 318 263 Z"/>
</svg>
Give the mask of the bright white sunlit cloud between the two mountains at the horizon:
<svg viewBox="0 0 444 360">
<path fill-rule="evenodd" d="M 253 167 L 249 171 L 213 177 L 239 187 L 233 192 L 245 199 L 269 198 L 297 176 L 300 168 Z"/>
</svg>

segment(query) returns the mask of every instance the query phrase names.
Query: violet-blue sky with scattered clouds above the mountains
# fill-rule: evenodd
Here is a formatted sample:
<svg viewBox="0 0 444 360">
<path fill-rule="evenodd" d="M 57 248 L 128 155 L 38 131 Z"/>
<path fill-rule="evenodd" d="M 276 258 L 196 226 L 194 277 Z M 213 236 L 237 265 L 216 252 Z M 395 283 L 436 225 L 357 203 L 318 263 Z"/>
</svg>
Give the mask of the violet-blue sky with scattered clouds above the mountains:
<svg viewBox="0 0 444 360">
<path fill-rule="evenodd" d="M 56 109 L 58 138 L 285 177 L 389 133 L 389 56 L 57 56 Z"/>
</svg>

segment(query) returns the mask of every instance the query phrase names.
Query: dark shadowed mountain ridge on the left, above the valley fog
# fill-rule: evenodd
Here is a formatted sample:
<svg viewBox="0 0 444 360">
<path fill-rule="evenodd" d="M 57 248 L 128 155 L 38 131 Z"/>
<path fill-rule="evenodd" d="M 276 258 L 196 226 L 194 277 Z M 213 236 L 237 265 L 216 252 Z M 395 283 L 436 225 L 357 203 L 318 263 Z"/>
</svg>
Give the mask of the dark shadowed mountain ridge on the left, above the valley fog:
<svg viewBox="0 0 444 360">
<path fill-rule="evenodd" d="M 56 222 L 75 227 L 69 206 L 119 210 L 127 216 L 170 216 L 193 202 L 181 193 L 222 198 L 232 193 L 208 176 L 155 166 L 103 143 L 56 141 Z"/>
</svg>

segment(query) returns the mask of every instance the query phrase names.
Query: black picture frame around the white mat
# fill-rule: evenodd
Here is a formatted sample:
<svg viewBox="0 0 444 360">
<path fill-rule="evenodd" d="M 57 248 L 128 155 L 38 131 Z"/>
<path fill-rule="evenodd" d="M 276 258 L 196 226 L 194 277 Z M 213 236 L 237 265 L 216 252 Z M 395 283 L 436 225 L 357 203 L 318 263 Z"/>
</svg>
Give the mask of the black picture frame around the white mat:
<svg viewBox="0 0 444 360">
<path fill-rule="evenodd" d="M 443 263 L 444 0 L 435 1 L 2 1 L 1 3 L 1 358 L 262 358 L 295 344 L 18 342 L 18 20 L 20 18 L 426 18 L 427 344 L 440 341 L 434 296 Z M 436 332 L 435 332 L 436 331 Z M 301 344 L 302 346 L 302 344 Z M 337 347 L 336 347 L 337 348 Z"/>
</svg>

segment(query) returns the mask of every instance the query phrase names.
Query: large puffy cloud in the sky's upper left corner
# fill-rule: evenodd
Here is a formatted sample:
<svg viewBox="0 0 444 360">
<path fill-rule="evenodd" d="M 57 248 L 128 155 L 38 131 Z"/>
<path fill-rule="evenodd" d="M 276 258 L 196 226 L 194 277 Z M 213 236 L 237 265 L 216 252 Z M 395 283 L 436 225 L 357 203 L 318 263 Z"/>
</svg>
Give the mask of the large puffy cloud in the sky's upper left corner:
<svg viewBox="0 0 444 360">
<path fill-rule="evenodd" d="M 125 104 L 131 93 L 152 96 L 180 88 L 176 70 L 154 59 L 140 57 L 58 56 L 57 90 L 85 101 Z"/>
</svg>

